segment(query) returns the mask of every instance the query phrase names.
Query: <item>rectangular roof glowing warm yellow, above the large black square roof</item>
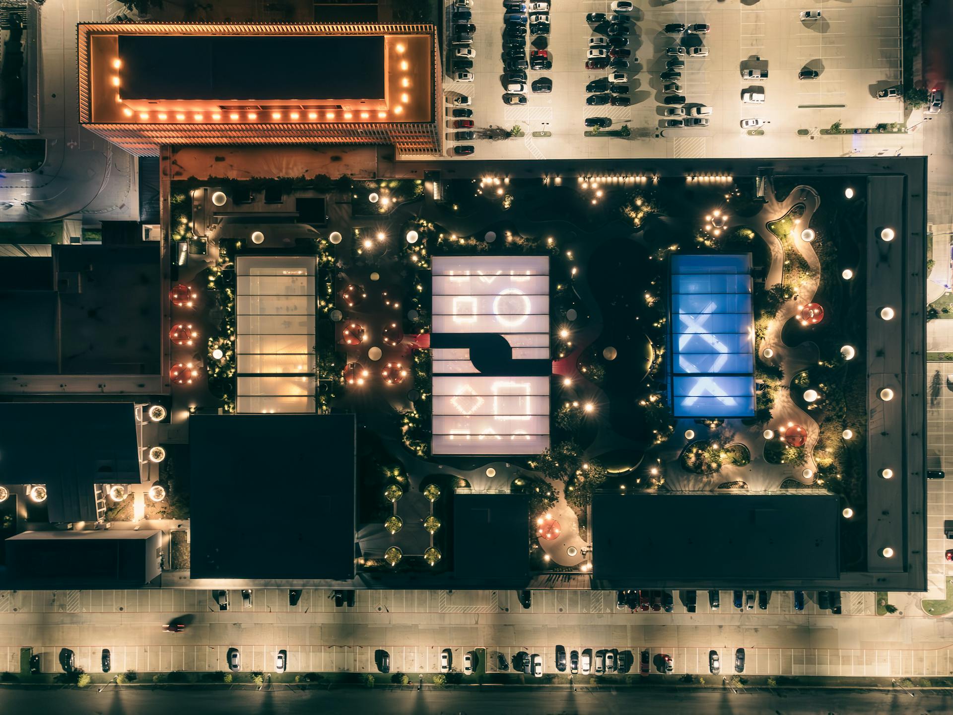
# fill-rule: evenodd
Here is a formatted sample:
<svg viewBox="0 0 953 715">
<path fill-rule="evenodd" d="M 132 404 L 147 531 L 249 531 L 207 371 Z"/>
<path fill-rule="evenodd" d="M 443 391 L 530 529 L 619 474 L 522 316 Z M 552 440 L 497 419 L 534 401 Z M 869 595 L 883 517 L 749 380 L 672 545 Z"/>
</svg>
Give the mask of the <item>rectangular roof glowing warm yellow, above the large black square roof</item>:
<svg viewBox="0 0 953 715">
<path fill-rule="evenodd" d="M 236 412 L 314 412 L 314 257 L 235 259 Z"/>
</svg>

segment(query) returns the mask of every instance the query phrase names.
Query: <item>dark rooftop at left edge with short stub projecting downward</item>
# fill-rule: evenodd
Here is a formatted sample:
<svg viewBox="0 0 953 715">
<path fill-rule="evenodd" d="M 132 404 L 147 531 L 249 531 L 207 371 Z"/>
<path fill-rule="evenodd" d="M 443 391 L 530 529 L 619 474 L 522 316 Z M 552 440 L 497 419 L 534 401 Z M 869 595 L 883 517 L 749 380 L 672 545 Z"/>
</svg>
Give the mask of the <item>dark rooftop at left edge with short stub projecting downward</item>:
<svg viewBox="0 0 953 715">
<path fill-rule="evenodd" d="M 0 484 L 46 484 L 50 521 L 96 521 L 95 484 L 137 484 L 132 402 L 0 403 Z"/>
</svg>

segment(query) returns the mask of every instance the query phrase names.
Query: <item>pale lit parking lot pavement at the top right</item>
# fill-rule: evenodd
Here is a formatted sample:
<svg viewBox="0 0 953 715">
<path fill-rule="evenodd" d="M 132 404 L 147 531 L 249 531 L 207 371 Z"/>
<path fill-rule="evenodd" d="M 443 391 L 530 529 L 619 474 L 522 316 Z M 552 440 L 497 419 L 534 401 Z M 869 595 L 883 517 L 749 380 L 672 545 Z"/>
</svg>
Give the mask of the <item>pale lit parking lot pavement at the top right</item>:
<svg viewBox="0 0 953 715">
<path fill-rule="evenodd" d="M 629 49 L 639 62 L 629 74 L 630 107 L 587 107 L 586 85 L 606 71 L 586 70 L 588 38 L 594 34 L 586 13 L 610 13 L 605 0 L 555 0 L 549 11 L 551 31 L 545 47 L 553 69 L 528 72 L 532 82 L 552 79 L 551 93 L 527 92 L 527 104 L 507 106 L 502 101 L 503 60 L 501 35 L 504 9 L 496 0 L 477 0 L 472 9 L 476 34 L 474 82 L 455 82 L 451 63 L 444 60 L 445 94 L 462 92 L 473 97 L 476 130 L 522 127 L 522 137 L 501 141 L 477 139 L 474 158 L 609 158 L 609 157 L 720 157 L 738 155 L 797 156 L 850 153 L 852 149 L 904 147 L 912 153 L 912 139 L 904 134 L 821 136 L 818 131 L 841 121 L 843 127 L 875 127 L 902 122 L 902 102 L 878 100 L 878 90 L 901 79 L 901 21 L 897 0 L 862 0 L 849 5 L 817 0 L 780 0 L 742 4 L 740 0 L 637 0 L 630 13 Z M 821 19 L 801 21 L 801 10 L 818 10 Z M 450 11 L 447 12 L 448 26 Z M 708 23 L 707 35 L 673 37 L 666 24 Z M 529 34 L 529 33 L 527 33 Z M 528 49 L 543 47 L 527 36 Z M 713 108 L 705 128 L 663 129 L 659 73 L 665 70 L 666 47 L 683 42 L 703 43 L 706 57 L 688 57 L 680 84 L 688 106 Z M 448 34 L 446 45 L 450 48 Z M 762 69 L 768 77 L 758 83 L 765 92 L 762 105 L 742 105 L 743 69 Z M 816 70 L 817 79 L 799 80 L 801 69 Z M 449 113 L 450 106 L 444 104 Z M 627 125 L 629 138 L 584 136 L 589 116 L 606 116 L 610 129 Z M 750 135 L 740 120 L 768 122 L 763 135 Z M 449 117 L 446 118 L 449 122 Z M 798 135 L 798 130 L 809 134 Z M 447 129 L 448 136 L 451 132 Z M 551 133 L 536 135 L 534 133 Z M 448 143 L 448 150 L 452 143 Z"/>
</svg>

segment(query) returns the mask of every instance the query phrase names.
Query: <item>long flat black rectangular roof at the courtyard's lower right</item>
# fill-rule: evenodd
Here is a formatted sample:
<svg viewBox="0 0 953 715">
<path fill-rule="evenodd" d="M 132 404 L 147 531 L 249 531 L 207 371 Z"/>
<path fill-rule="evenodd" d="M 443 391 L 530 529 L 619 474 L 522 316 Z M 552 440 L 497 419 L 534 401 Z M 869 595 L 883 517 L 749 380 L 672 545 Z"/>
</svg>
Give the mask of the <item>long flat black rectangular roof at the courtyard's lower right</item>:
<svg viewBox="0 0 953 715">
<path fill-rule="evenodd" d="M 830 494 L 598 494 L 593 576 L 642 586 L 753 586 L 840 575 Z"/>
</svg>

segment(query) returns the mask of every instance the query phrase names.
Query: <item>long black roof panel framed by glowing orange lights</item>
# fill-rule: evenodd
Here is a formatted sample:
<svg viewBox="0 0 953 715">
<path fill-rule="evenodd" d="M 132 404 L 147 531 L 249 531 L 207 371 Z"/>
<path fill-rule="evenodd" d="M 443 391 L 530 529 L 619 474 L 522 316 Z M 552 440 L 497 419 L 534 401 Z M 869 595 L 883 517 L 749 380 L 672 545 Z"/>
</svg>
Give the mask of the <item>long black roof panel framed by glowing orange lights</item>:
<svg viewBox="0 0 953 715">
<path fill-rule="evenodd" d="M 119 35 L 123 99 L 383 99 L 383 35 Z"/>
</svg>

